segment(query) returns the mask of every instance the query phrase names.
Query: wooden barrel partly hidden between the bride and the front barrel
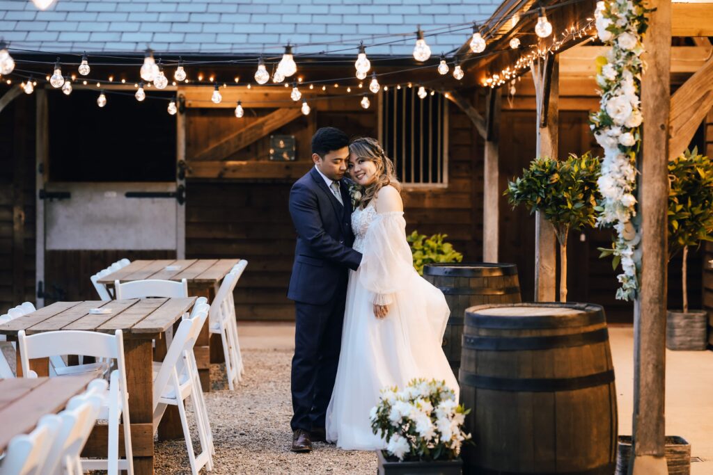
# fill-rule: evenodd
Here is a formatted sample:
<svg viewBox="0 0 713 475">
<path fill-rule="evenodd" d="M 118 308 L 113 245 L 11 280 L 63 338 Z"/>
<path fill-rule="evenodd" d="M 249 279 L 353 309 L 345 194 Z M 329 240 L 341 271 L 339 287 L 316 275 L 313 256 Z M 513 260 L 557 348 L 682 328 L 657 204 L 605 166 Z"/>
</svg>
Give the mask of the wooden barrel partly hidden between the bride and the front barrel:
<svg viewBox="0 0 713 475">
<path fill-rule="evenodd" d="M 424 278 L 441 289 L 451 309 L 443 352 L 458 377 L 466 308 L 485 303 L 520 303 L 518 266 L 487 262 L 426 264 Z"/>
</svg>

